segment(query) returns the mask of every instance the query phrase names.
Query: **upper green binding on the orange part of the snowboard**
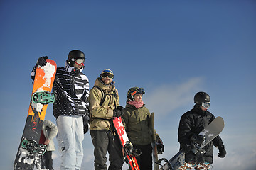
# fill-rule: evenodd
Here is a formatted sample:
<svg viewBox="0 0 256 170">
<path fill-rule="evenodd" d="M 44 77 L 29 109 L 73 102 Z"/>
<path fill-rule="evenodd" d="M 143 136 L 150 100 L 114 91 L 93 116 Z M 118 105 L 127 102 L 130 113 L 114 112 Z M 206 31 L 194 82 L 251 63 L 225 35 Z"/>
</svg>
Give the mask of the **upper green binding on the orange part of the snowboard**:
<svg viewBox="0 0 256 170">
<path fill-rule="evenodd" d="M 54 103 L 55 96 L 49 91 L 35 92 L 32 95 L 32 101 L 33 103 L 41 103 L 41 104 Z"/>
</svg>

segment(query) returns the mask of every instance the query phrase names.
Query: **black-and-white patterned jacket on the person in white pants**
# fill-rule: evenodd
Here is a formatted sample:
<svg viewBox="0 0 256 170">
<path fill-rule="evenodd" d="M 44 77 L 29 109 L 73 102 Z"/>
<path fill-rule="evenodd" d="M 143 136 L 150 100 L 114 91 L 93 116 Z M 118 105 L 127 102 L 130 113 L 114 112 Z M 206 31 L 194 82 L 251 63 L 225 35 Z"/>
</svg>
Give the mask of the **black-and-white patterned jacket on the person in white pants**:
<svg viewBox="0 0 256 170">
<path fill-rule="evenodd" d="M 35 70 L 34 70 L 35 71 Z M 89 115 L 88 96 L 89 80 L 81 70 L 70 67 L 65 62 L 65 67 L 58 67 L 53 83 L 55 102 L 53 115 Z M 31 75 L 33 75 L 33 71 Z"/>
</svg>

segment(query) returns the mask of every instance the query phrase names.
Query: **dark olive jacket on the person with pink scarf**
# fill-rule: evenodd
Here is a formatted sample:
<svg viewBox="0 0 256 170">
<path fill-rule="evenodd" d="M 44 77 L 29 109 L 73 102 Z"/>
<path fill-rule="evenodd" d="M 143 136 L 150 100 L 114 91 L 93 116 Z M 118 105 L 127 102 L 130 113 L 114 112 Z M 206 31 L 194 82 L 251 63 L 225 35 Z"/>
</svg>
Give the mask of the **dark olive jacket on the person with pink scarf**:
<svg viewBox="0 0 256 170">
<path fill-rule="evenodd" d="M 149 109 L 145 106 L 136 108 L 127 103 L 122 120 L 130 142 L 134 145 L 148 145 L 152 142 L 149 130 Z"/>
</svg>

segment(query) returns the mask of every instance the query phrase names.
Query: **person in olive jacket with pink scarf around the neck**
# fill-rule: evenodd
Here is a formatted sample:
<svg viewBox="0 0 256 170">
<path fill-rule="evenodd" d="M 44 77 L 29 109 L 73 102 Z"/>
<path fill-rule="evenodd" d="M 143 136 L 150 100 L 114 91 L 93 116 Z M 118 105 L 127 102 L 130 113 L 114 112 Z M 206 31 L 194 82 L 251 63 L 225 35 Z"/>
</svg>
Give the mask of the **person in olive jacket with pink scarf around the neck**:
<svg viewBox="0 0 256 170">
<path fill-rule="evenodd" d="M 132 87 L 127 93 L 127 105 L 124 108 L 122 120 L 124 123 L 129 141 L 134 149 L 139 149 L 142 154 L 136 157 L 139 169 L 152 169 L 152 134 L 149 129 L 149 109 L 142 101 L 145 94 L 143 88 Z M 156 134 L 156 142 L 162 143 L 159 135 Z"/>
</svg>

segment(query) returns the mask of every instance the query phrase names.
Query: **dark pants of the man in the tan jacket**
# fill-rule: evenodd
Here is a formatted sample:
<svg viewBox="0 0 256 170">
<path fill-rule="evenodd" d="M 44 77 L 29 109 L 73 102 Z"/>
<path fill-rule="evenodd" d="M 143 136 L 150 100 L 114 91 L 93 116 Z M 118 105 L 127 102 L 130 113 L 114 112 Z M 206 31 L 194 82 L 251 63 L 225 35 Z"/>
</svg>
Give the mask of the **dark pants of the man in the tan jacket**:
<svg viewBox="0 0 256 170">
<path fill-rule="evenodd" d="M 107 170 L 107 152 L 109 153 L 109 170 L 121 170 L 124 163 L 122 147 L 117 135 L 110 130 L 90 130 L 92 144 L 95 147 L 95 170 Z"/>
</svg>

